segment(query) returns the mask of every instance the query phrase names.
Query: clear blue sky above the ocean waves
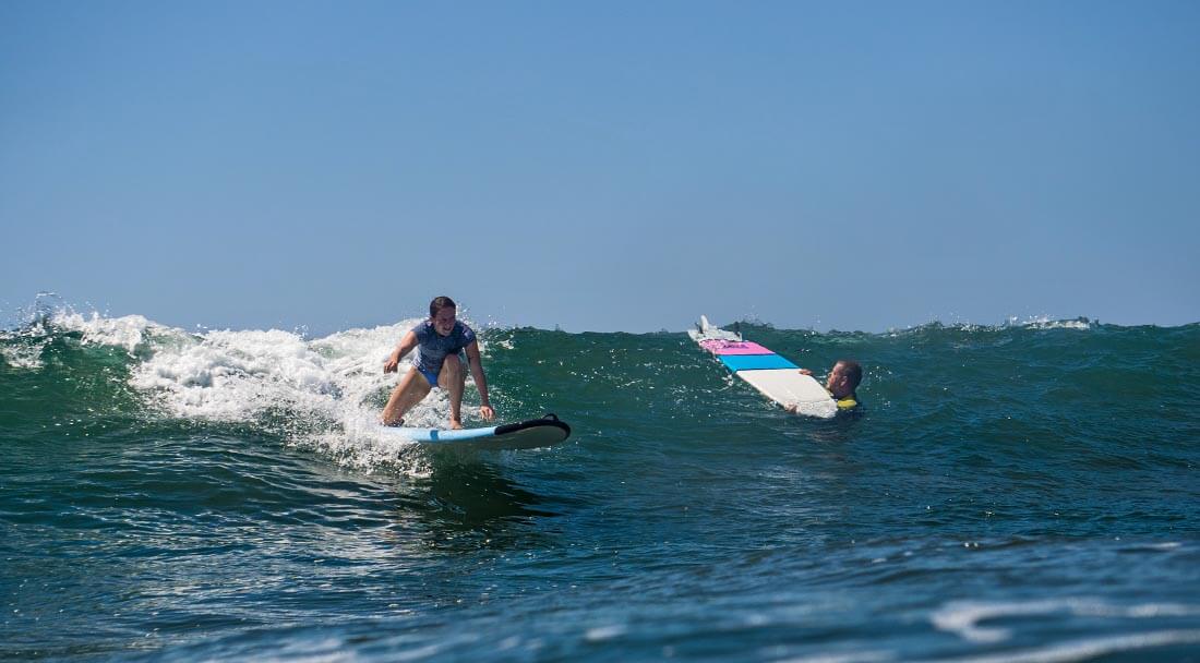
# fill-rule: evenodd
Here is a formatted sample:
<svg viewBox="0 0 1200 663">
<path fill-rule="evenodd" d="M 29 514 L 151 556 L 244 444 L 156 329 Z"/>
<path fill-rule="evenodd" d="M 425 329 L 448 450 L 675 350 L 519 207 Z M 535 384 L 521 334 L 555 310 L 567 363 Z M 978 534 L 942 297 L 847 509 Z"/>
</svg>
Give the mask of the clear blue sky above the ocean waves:
<svg viewBox="0 0 1200 663">
<path fill-rule="evenodd" d="M 0 309 L 1200 320 L 1200 2 L 0 2 Z"/>
</svg>

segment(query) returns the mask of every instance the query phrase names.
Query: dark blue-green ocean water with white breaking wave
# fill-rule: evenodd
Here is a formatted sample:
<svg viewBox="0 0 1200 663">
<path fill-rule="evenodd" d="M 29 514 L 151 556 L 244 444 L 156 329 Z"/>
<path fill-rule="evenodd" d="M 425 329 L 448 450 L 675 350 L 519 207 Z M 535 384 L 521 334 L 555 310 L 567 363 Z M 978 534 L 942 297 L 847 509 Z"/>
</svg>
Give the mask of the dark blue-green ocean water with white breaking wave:
<svg viewBox="0 0 1200 663">
<path fill-rule="evenodd" d="M 682 330 L 481 329 L 574 435 L 470 453 L 373 432 L 412 324 L 0 332 L 0 658 L 1200 661 L 1200 325 L 743 324 L 863 362 L 833 421 Z"/>
</svg>

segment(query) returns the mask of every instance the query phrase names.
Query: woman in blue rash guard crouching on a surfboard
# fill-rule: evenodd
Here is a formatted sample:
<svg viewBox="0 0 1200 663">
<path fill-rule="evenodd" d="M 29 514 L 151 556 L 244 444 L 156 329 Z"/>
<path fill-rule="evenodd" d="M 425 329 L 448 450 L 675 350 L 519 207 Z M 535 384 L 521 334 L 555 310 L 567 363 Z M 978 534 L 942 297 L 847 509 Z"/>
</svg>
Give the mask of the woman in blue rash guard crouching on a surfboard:
<svg viewBox="0 0 1200 663">
<path fill-rule="evenodd" d="M 475 332 L 457 321 L 458 307 L 450 297 L 436 297 L 430 302 L 430 319 L 404 333 L 400 345 L 383 364 L 384 373 L 395 373 L 400 360 L 416 349 L 410 360 L 413 367 L 400 379 L 391 392 L 388 405 L 383 409 L 385 426 L 403 426 L 404 415 L 421 402 L 433 387 L 442 387 L 450 393 L 450 428 L 462 428 L 462 390 L 467 382 L 463 369 L 462 351 L 470 376 L 479 388 L 479 416 L 485 421 L 496 418 L 496 411 L 487 400 L 487 376 L 484 375 L 484 363 L 479 357 L 479 342 Z"/>
</svg>

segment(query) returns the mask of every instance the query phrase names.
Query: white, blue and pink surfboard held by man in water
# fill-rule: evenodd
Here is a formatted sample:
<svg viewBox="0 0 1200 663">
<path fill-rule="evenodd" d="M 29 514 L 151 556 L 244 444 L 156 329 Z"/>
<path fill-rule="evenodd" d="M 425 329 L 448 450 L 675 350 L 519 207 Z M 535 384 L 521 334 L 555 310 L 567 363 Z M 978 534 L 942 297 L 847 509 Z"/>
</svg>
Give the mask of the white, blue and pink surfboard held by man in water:
<svg viewBox="0 0 1200 663">
<path fill-rule="evenodd" d="M 734 375 L 785 409 L 820 418 L 838 414 L 838 404 L 821 382 L 767 348 L 744 340 L 739 333 L 714 327 L 703 315 L 688 334 Z"/>
</svg>

